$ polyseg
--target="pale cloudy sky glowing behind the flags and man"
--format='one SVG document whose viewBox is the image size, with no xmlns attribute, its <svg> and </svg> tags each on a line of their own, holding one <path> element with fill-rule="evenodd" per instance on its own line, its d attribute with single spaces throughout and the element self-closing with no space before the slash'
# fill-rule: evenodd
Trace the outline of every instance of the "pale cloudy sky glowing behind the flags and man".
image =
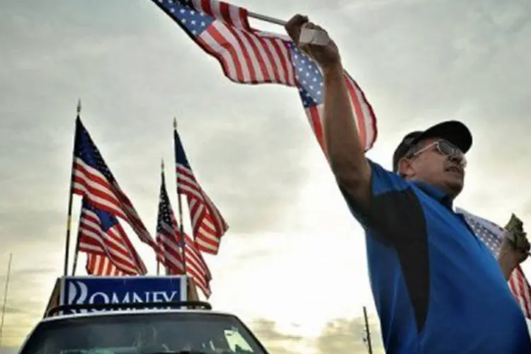
<svg viewBox="0 0 531 354">
<path fill-rule="evenodd" d="M 390 168 L 406 132 L 462 120 L 474 147 L 456 205 L 498 224 L 511 212 L 531 219 L 527 1 L 233 4 L 285 20 L 304 13 L 329 31 L 378 118 L 371 159 Z M 2 286 L 13 253 L 3 346 L 20 345 L 62 274 L 81 98 L 84 125 L 153 233 L 161 159 L 176 205 L 178 118 L 190 164 L 230 226 L 207 257 L 216 309 L 240 316 L 273 353 L 358 354 L 366 306 L 382 353 L 363 232 L 295 89 L 232 83 L 148 0 L 3 0 L 0 33 Z M 154 255 L 126 230 L 154 273 Z M 523 267 L 531 273 L 531 261 Z"/>
</svg>

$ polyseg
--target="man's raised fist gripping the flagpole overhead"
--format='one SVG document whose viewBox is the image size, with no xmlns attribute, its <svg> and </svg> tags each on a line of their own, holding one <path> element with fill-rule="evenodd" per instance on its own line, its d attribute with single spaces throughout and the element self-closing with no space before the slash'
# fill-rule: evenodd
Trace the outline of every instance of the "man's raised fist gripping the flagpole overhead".
<svg viewBox="0 0 531 354">
<path fill-rule="evenodd" d="M 302 28 L 310 28 L 315 30 L 323 30 L 318 25 L 309 22 L 307 16 L 295 15 L 287 21 L 285 29 L 287 34 L 290 35 L 295 45 L 299 47 L 309 57 L 314 59 L 317 64 L 326 72 L 328 69 L 333 69 L 341 65 L 341 57 L 339 56 L 338 47 L 333 40 L 330 40 L 327 45 L 314 45 L 299 43 L 300 33 Z M 325 31 L 326 32 L 326 31 Z"/>
</svg>

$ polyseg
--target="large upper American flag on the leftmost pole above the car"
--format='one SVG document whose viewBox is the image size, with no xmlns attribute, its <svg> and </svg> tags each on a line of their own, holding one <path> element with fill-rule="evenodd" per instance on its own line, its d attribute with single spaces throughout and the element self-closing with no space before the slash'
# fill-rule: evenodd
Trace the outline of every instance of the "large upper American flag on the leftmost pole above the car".
<svg viewBox="0 0 531 354">
<path fill-rule="evenodd" d="M 74 194 L 87 198 L 98 210 L 124 219 L 143 242 L 156 249 L 155 241 L 122 192 L 79 116 L 76 118 L 72 181 Z"/>
</svg>

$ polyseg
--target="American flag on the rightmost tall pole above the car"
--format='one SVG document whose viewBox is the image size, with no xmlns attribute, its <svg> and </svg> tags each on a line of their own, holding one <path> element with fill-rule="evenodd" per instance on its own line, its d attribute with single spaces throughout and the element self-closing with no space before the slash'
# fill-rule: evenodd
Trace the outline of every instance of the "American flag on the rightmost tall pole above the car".
<svg viewBox="0 0 531 354">
<path fill-rule="evenodd" d="M 229 225 L 195 179 L 177 130 L 173 131 L 173 140 L 175 142 L 177 193 L 186 195 L 188 200 L 195 244 L 200 251 L 217 254 L 221 237 L 227 232 Z"/>
</svg>

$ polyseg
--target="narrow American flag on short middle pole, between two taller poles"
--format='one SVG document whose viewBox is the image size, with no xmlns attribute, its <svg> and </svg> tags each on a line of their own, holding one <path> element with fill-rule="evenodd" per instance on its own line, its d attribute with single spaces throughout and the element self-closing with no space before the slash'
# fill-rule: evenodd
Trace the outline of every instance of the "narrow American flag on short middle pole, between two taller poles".
<svg viewBox="0 0 531 354">
<path fill-rule="evenodd" d="M 163 171 L 161 172 L 159 212 L 156 221 L 156 243 L 159 245 L 156 260 L 164 265 L 169 274 L 184 274 L 183 256 L 177 230 L 177 222 L 171 210 Z"/>
</svg>

